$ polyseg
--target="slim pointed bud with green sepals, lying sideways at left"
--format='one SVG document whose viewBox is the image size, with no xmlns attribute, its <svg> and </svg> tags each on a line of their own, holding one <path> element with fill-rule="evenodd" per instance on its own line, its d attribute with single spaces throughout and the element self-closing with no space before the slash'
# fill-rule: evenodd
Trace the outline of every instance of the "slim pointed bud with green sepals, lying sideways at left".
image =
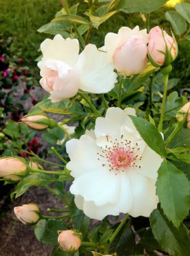
<svg viewBox="0 0 190 256">
<path fill-rule="evenodd" d="M 45 115 L 45 113 L 37 113 L 32 116 L 27 115 L 24 116 L 21 121 L 28 127 L 38 131 L 44 131 L 47 127 L 56 127 L 56 122 Z"/>
</svg>

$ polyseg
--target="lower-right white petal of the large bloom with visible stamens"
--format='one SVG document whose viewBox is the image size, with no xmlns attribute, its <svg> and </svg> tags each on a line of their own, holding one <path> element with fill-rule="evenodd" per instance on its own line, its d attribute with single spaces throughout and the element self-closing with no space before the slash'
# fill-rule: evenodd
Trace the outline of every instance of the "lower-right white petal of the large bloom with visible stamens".
<svg viewBox="0 0 190 256">
<path fill-rule="evenodd" d="M 149 217 L 158 203 L 155 181 L 138 174 L 136 170 L 127 170 L 127 175 L 133 195 L 133 205 L 129 214 L 132 217 Z"/>
</svg>

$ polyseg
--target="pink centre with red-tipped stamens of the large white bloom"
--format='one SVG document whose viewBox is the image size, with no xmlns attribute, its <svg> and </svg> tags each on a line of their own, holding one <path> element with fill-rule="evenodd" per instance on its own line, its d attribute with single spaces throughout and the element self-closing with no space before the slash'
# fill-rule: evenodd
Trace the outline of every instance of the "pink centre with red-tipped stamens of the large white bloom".
<svg viewBox="0 0 190 256">
<path fill-rule="evenodd" d="M 108 140 L 108 136 L 107 136 Z M 138 153 L 140 148 L 138 147 L 138 143 L 133 147 L 131 146 L 131 141 L 123 139 L 123 135 L 121 136 L 120 142 L 115 139 L 114 142 L 112 140 L 109 141 L 112 146 L 105 145 L 105 149 L 102 148 L 102 154 L 97 153 L 100 158 L 99 161 L 103 161 L 103 167 L 109 166 L 109 171 L 122 171 L 124 172 L 127 167 L 138 167 L 136 165 L 136 160 L 138 157 Z M 139 158 L 141 160 L 141 157 Z"/>
</svg>

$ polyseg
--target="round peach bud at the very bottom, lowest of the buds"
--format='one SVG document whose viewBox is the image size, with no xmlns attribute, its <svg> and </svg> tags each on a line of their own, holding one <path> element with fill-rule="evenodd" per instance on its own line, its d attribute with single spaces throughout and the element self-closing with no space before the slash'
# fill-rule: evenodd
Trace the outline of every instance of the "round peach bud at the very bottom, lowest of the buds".
<svg viewBox="0 0 190 256">
<path fill-rule="evenodd" d="M 61 231 L 58 242 L 63 250 L 75 252 L 81 246 L 81 233 L 76 232 L 76 230 Z"/>
</svg>

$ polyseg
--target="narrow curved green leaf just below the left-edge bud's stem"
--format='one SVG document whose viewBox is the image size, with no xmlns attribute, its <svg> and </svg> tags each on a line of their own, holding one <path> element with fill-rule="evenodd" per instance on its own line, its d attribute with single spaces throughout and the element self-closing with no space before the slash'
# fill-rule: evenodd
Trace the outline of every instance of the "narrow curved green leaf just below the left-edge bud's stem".
<svg viewBox="0 0 190 256">
<path fill-rule="evenodd" d="M 17 187 L 15 188 L 15 191 L 12 193 L 12 196 L 16 194 L 15 198 L 17 199 L 32 186 L 39 187 L 41 185 L 49 185 L 54 181 L 55 179 L 52 179 L 47 174 L 33 172 L 32 174 L 30 174 L 30 176 L 25 177 L 17 184 Z"/>
</svg>

